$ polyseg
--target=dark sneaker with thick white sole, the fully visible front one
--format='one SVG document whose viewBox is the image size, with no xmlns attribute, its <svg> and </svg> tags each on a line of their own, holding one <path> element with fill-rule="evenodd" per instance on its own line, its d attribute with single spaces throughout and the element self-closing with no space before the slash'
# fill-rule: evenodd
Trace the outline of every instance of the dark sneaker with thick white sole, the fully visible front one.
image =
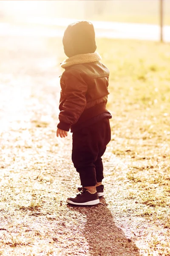
<svg viewBox="0 0 170 256">
<path fill-rule="evenodd" d="M 66 202 L 68 204 L 75 205 L 95 205 L 99 204 L 98 193 L 91 194 L 87 189 L 82 188 L 79 194 L 74 198 L 67 198 Z"/>
</svg>

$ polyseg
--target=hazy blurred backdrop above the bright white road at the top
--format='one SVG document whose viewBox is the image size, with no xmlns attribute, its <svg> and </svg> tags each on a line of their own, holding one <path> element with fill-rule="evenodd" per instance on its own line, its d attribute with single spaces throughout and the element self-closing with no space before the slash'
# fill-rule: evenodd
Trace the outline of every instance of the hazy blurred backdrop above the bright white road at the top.
<svg viewBox="0 0 170 256">
<path fill-rule="evenodd" d="M 1 1 L 2 17 L 73 18 L 159 23 L 160 0 Z M 170 1 L 164 0 L 164 23 L 170 25 Z"/>
</svg>

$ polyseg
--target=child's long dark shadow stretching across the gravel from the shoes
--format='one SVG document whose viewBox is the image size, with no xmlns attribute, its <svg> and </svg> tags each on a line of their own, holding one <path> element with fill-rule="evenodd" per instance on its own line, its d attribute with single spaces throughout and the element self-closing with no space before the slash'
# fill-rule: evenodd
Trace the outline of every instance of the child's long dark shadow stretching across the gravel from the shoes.
<svg viewBox="0 0 170 256">
<path fill-rule="evenodd" d="M 105 199 L 102 198 L 100 201 L 102 204 L 94 207 L 72 207 L 75 211 L 86 215 L 82 234 L 88 242 L 88 255 L 140 256 L 138 247 L 114 223 Z"/>
</svg>

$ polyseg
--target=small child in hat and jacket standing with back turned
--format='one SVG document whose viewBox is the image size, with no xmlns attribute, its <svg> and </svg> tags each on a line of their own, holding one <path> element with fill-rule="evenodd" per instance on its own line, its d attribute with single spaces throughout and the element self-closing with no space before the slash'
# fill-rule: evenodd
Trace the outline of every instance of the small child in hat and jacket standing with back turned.
<svg viewBox="0 0 170 256">
<path fill-rule="evenodd" d="M 60 79 L 59 124 L 57 137 L 73 133 L 72 161 L 79 172 L 79 194 L 69 204 L 99 204 L 104 195 L 102 155 L 111 140 L 106 109 L 109 70 L 96 51 L 94 26 L 88 21 L 70 24 L 62 39 L 68 59 Z"/>
</svg>

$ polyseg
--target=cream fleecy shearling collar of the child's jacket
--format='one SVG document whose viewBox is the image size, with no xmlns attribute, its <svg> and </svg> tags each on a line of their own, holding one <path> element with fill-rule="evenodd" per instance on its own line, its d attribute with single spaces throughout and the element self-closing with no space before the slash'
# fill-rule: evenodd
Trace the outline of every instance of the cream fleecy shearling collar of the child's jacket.
<svg viewBox="0 0 170 256">
<path fill-rule="evenodd" d="M 76 64 L 100 61 L 101 59 L 102 58 L 101 58 L 101 56 L 99 55 L 98 52 L 86 53 L 86 54 L 78 54 L 78 55 L 75 55 L 75 56 L 72 56 L 70 58 L 65 59 L 61 63 L 60 66 L 65 68 L 65 67 L 69 67 L 69 66 L 76 65 Z"/>
</svg>

